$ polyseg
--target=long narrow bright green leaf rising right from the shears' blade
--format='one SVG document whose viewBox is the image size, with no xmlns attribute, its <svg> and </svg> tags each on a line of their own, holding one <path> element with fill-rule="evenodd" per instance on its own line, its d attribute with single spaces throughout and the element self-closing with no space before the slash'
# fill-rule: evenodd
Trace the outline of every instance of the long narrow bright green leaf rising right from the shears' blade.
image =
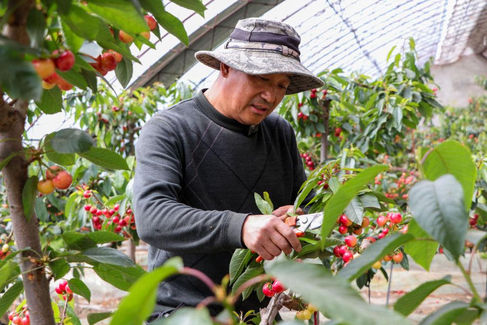
<svg viewBox="0 0 487 325">
<path fill-rule="evenodd" d="M 350 201 L 356 196 L 364 185 L 374 180 L 378 173 L 388 169 L 385 165 L 369 167 L 359 172 L 354 178 L 349 179 L 335 195 L 326 203 L 323 211 L 323 224 L 321 225 L 321 236 L 328 237 L 328 233 L 336 225 L 337 218 L 342 214 Z"/>
</svg>

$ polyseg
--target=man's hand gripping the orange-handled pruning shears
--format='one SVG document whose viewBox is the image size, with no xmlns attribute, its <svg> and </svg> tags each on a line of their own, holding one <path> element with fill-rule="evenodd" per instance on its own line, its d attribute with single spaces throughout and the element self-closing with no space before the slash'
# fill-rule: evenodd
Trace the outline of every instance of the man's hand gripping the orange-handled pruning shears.
<svg viewBox="0 0 487 325">
<path fill-rule="evenodd" d="M 284 223 L 288 215 L 249 215 L 242 227 L 242 240 L 248 249 L 256 251 L 265 260 L 272 260 L 283 251 L 289 255 L 292 249 L 301 250 L 296 233 Z"/>
</svg>

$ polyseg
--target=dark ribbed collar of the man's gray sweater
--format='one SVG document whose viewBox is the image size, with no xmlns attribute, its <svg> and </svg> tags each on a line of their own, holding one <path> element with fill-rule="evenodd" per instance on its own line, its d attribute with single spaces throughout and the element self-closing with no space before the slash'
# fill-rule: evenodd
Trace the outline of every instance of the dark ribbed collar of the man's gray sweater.
<svg viewBox="0 0 487 325">
<path fill-rule="evenodd" d="M 209 119 L 225 129 L 242 132 L 247 135 L 253 134 L 259 130 L 259 124 L 245 125 L 218 112 L 218 110 L 211 105 L 206 96 L 203 94 L 206 92 L 206 89 L 207 88 L 202 89 L 196 96 L 193 97 L 193 99 L 203 114 L 208 116 Z"/>
</svg>

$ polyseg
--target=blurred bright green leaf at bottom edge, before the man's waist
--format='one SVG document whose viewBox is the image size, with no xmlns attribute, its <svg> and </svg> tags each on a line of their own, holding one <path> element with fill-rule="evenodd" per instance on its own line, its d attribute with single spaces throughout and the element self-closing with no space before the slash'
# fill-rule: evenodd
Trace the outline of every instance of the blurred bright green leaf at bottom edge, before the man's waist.
<svg viewBox="0 0 487 325">
<path fill-rule="evenodd" d="M 142 324 L 154 308 L 159 283 L 178 273 L 181 268 L 183 268 L 183 260 L 175 257 L 166 261 L 161 267 L 143 275 L 120 302 L 110 325 Z"/>
</svg>

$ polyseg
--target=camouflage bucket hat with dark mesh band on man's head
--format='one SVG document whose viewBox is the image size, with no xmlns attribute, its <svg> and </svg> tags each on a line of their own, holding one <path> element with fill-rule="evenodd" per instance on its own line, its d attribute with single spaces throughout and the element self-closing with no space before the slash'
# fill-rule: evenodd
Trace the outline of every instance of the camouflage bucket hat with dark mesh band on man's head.
<svg viewBox="0 0 487 325">
<path fill-rule="evenodd" d="M 291 74 L 286 95 L 323 86 L 300 62 L 301 38 L 296 30 L 280 21 L 260 18 L 239 20 L 225 48 L 198 51 L 201 63 L 220 70 L 220 62 L 248 75 Z"/>
</svg>

